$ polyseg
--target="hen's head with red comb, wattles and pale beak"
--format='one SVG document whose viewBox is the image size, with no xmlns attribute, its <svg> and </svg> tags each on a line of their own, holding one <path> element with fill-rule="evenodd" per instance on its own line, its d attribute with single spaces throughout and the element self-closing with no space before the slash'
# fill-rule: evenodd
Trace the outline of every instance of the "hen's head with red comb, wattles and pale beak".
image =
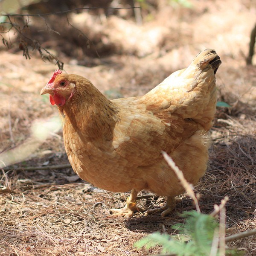
<svg viewBox="0 0 256 256">
<path fill-rule="evenodd" d="M 62 74 L 55 70 L 47 85 L 41 90 L 41 95 L 49 93 L 52 105 L 64 106 L 81 91 L 81 87 L 93 86 L 82 76 Z M 85 88 L 84 88 L 85 89 Z"/>
</svg>

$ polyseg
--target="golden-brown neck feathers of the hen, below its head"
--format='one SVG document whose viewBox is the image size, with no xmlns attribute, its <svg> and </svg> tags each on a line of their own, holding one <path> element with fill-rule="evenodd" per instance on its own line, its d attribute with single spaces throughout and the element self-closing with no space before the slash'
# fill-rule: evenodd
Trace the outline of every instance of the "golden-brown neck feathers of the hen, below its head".
<svg viewBox="0 0 256 256">
<path fill-rule="evenodd" d="M 81 140 L 97 143 L 112 140 L 113 129 L 119 122 L 119 108 L 87 79 L 76 81 L 76 93 L 58 108 L 69 119 Z"/>
</svg>

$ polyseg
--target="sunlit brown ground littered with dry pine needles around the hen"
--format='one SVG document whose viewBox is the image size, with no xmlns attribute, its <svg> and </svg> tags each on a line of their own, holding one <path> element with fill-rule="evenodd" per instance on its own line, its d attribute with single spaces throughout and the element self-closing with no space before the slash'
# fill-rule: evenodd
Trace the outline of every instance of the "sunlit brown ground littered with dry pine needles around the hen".
<svg viewBox="0 0 256 256">
<path fill-rule="evenodd" d="M 129 1 L 99 2 L 129 6 Z M 225 195 L 230 198 L 227 235 L 255 229 L 256 59 L 246 66 L 245 58 L 256 2 L 189 0 L 190 8 L 173 2 L 142 1 L 135 17 L 131 9 L 72 12 L 68 20 L 51 15 L 44 22 L 30 17 L 30 33 L 64 61 L 67 73 L 87 77 L 110 98 L 143 95 L 187 67 L 201 50 L 214 48 L 222 61 L 216 75 L 218 100 L 231 108 L 217 110 L 209 168 L 195 192 L 204 213 L 212 212 Z M 24 13 L 52 11 L 59 9 L 41 2 Z M 47 30 L 46 23 L 60 35 Z M 133 244 L 154 231 L 175 233 L 171 226 L 184 221 L 179 213 L 195 209 L 192 199 L 183 195 L 166 218 L 158 213 L 108 218 L 108 209 L 123 207 L 129 194 L 92 186 L 68 166 L 61 127 L 53 119 L 57 111 L 40 96 L 57 67 L 32 48 L 26 60 L 17 50 L 17 37 L 9 34 L 10 49 L 0 46 L 0 166 L 9 165 L 0 169 L 0 255 L 160 253 L 160 247 L 137 250 Z M 156 195 L 139 200 L 149 209 L 163 203 Z M 256 255 L 255 236 L 228 246 Z"/>
</svg>

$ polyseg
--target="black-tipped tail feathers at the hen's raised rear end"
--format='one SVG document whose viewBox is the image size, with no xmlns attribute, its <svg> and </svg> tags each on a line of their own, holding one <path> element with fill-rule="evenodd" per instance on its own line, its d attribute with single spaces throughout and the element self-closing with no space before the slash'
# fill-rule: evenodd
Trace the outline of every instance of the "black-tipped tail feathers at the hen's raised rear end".
<svg viewBox="0 0 256 256">
<path fill-rule="evenodd" d="M 221 64 L 220 57 L 214 49 L 205 49 L 203 52 L 195 56 L 193 62 L 198 68 L 204 70 L 209 64 L 212 67 L 214 74 L 216 74 L 218 67 Z"/>
</svg>

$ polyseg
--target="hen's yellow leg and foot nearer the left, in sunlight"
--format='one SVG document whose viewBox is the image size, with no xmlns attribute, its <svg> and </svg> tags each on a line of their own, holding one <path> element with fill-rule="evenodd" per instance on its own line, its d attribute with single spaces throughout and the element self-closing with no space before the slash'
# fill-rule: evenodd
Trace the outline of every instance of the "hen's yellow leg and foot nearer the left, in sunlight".
<svg viewBox="0 0 256 256">
<path fill-rule="evenodd" d="M 137 194 L 138 194 L 138 191 L 136 191 L 135 189 L 132 189 L 131 195 L 126 200 L 125 207 L 121 209 L 110 209 L 110 211 L 113 213 L 110 216 L 124 216 L 126 218 L 130 218 L 135 211 L 144 212 L 145 209 L 137 207 L 136 205 Z"/>
</svg>

